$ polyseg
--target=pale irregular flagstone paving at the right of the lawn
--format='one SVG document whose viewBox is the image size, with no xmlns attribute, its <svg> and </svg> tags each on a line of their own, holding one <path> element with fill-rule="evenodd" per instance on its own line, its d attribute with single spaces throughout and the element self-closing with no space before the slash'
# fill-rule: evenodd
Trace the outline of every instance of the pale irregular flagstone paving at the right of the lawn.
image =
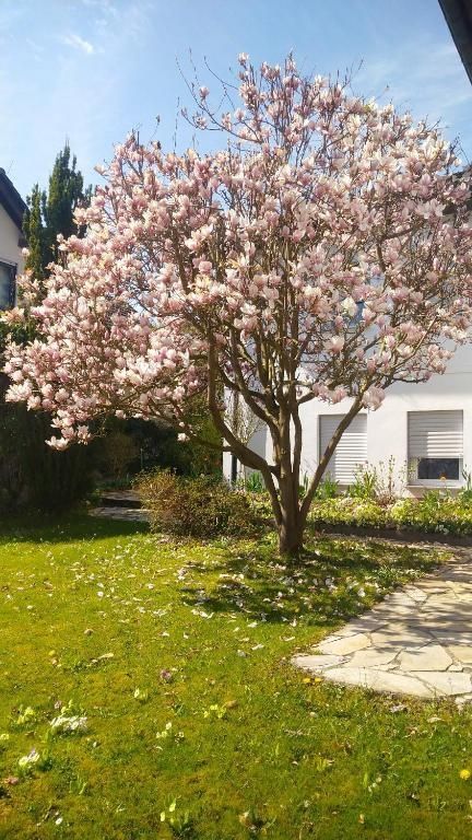
<svg viewBox="0 0 472 840">
<path fill-rule="evenodd" d="M 294 664 L 332 682 L 472 701 L 472 552 L 388 595 Z"/>
</svg>

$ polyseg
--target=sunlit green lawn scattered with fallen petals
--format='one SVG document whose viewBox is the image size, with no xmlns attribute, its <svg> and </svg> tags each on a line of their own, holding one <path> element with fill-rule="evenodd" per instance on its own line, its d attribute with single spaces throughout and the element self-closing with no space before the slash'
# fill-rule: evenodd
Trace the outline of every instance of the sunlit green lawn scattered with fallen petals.
<svg viewBox="0 0 472 840">
<path fill-rule="evenodd" d="M 4 526 L 0 838 L 470 837 L 469 710 L 307 681 L 290 664 L 438 556 L 310 548 L 285 568 L 269 537 Z M 86 731 L 54 733 L 62 707 Z"/>
</svg>

